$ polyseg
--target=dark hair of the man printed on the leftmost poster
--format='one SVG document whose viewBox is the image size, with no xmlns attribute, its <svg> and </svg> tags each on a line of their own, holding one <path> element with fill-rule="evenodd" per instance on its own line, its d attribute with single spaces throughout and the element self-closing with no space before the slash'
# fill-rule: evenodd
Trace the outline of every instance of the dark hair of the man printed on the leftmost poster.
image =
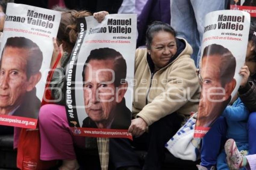
<svg viewBox="0 0 256 170">
<path fill-rule="evenodd" d="M 34 43 L 33 41 L 25 37 L 9 37 L 6 40 L 2 55 L 6 47 L 24 48 L 29 50 L 27 54 L 28 55 L 27 78 L 28 79 L 30 78 L 31 75 L 39 72 L 42 66 L 43 53 L 36 43 Z"/>
</svg>

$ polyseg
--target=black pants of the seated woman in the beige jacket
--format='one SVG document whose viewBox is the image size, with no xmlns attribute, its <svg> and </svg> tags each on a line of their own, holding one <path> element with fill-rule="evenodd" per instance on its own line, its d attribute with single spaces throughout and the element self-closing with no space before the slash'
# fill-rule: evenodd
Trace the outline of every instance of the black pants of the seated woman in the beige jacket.
<svg viewBox="0 0 256 170">
<path fill-rule="evenodd" d="M 144 170 L 161 169 L 165 158 L 164 152 L 166 151 L 164 146 L 180 129 L 183 120 L 183 117 L 179 114 L 169 114 L 149 126 L 148 133 L 145 132 L 140 137 L 133 138 L 133 145 L 136 148 L 147 149 L 148 151 L 143 167 Z"/>
</svg>

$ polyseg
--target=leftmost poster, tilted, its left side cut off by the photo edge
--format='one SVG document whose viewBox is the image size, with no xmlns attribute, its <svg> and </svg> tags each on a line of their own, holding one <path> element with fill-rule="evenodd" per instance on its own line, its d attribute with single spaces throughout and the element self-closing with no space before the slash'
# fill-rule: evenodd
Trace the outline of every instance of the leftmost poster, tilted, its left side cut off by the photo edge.
<svg viewBox="0 0 256 170">
<path fill-rule="evenodd" d="M 8 3 L 1 44 L 0 125 L 35 129 L 61 13 Z"/>
</svg>

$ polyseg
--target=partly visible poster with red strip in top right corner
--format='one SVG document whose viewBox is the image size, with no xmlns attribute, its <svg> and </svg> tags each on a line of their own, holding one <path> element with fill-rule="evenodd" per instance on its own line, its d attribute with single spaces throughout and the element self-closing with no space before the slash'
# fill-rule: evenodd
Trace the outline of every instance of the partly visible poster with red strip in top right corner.
<svg viewBox="0 0 256 170">
<path fill-rule="evenodd" d="M 230 0 L 230 9 L 245 11 L 256 17 L 256 2 L 252 0 Z"/>
</svg>

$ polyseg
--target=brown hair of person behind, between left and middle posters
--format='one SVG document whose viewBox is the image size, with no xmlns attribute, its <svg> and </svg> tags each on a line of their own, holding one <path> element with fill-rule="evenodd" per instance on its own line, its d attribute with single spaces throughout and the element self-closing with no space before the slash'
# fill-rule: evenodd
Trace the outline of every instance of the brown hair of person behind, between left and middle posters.
<svg viewBox="0 0 256 170">
<path fill-rule="evenodd" d="M 57 10 L 62 12 L 57 40 L 66 42 L 68 48 L 72 50 L 78 35 L 76 19 L 91 16 L 92 14 L 88 11 L 67 10 L 65 8 L 57 8 Z"/>
</svg>

